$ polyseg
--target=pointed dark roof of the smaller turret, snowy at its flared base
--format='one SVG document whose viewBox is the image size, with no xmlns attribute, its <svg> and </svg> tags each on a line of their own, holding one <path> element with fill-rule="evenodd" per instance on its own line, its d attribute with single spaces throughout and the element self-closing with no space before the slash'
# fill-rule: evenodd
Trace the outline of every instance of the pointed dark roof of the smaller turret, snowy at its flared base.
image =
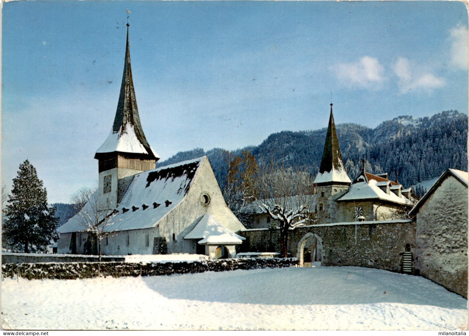
<svg viewBox="0 0 469 336">
<path fill-rule="evenodd" d="M 321 165 L 319 166 L 318 175 L 314 180 L 314 183 L 318 185 L 350 184 L 351 182 L 342 162 L 339 139 L 337 138 L 334 116 L 332 113 L 332 105 L 333 104 L 331 103 L 331 116 L 327 127 L 327 135 L 325 137 L 323 157 Z"/>
</svg>

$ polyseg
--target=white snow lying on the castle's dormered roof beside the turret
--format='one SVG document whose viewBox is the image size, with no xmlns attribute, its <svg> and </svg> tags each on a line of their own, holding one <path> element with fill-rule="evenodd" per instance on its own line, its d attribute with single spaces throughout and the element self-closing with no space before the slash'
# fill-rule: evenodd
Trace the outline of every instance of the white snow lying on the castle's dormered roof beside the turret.
<svg viewBox="0 0 469 336">
<path fill-rule="evenodd" d="M 354 201 L 366 199 L 380 199 L 400 204 L 410 204 L 410 201 L 405 196 L 397 196 L 394 193 L 386 194 L 380 187 L 378 182 L 374 179 L 366 182 L 357 182 L 348 188 L 348 192 L 340 197 L 337 201 Z"/>
</svg>

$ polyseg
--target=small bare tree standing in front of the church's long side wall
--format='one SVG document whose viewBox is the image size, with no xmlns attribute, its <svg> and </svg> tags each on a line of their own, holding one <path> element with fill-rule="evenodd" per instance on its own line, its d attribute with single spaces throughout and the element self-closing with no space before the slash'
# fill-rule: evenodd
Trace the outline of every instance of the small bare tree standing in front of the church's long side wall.
<svg viewBox="0 0 469 336">
<path fill-rule="evenodd" d="M 101 241 L 112 231 L 108 229 L 109 225 L 114 224 L 114 217 L 119 211 L 104 204 L 99 200 L 97 193 L 92 194 L 88 202 L 78 213 L 81 216 L 85 231 L 88 232 L 89 242 L 96 239 L 98 247 L 99 262 L 101 262 Z"/>
</svg>

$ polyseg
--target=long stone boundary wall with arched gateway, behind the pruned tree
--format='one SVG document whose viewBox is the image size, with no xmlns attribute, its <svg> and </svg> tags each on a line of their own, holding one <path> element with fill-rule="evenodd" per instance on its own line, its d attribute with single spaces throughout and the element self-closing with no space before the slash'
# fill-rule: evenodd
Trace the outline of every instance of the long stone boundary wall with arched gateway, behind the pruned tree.
<svg viewBox="0 0 469 336">
<path fill-rule="evenodd" d="M 322 265 L 400 271 L 401 253 L 406 244 L 415 247 L 415 234 L 410 220 L 310 225 L 290 231 L 288 253 L 302 265 L 306 238 L 315 236 L 322 245 Z M 279 230 L 245 230 L 241 235 L 246 241 L 240 252 L 280 251 Z"/>
</svg>

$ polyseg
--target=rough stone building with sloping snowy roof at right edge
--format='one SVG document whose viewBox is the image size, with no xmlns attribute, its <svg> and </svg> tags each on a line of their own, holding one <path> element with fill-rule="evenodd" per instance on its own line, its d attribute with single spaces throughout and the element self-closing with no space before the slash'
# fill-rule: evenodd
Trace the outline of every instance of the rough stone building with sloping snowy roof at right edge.
<svg viewBox="0 0 469 336">
<path fill-rule="evenodd" d="M 416 216 L 415 268 L 467 298 L 468 173 L 443 172 L 410 214 Z"/>
</svg>

